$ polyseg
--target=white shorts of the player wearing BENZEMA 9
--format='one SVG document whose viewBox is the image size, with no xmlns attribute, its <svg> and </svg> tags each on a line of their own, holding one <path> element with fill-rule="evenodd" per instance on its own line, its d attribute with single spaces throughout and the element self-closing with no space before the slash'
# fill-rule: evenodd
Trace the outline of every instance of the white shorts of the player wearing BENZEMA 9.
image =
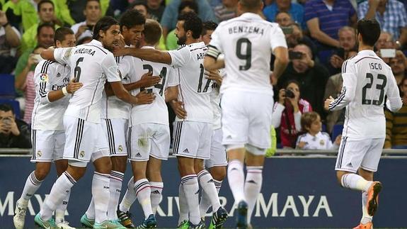
<svg viewBox="0 0 407 229">
<path fill-rule="evenodd" d="M 222 94 L 222 144 L 249 144 L 267 149 L 270 147 L 273 94 L 249 93 L 229 89 Z"/>
</svg>

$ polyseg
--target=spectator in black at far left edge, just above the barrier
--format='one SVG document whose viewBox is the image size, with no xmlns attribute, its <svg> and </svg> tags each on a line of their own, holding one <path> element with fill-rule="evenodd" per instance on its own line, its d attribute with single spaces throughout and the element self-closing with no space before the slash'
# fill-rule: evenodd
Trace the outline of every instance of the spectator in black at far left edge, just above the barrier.
<svg viewBox="0 0 407 229">
<path fill-rule="evenodd" d="M 8 104 L 0 104 L 0 147 L 30 148 L 30 135 L 30 127 L 16 119 L 13 108 Z"/>
</svg>

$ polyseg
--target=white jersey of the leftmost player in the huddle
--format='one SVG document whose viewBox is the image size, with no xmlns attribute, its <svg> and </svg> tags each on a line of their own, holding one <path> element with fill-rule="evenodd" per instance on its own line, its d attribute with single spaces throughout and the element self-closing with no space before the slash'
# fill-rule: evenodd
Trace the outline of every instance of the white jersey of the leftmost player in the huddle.
<svg viewBox="0 0 407 229">
<path fill-rule="evenodd" d="M 68 65 L 52 60 L 41 60 L 35 67 L 35 100 L 31 121 L 33 130 L 64 130 L 62 118 L 71 96 L 50 102 L 48 93 L 67 86 L 70 73 Z"/>
</svg>

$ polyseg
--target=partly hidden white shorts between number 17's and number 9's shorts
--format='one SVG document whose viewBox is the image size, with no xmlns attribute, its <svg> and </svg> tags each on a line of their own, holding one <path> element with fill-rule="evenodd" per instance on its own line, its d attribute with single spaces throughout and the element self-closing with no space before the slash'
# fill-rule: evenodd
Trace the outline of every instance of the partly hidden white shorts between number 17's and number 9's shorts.
<svg viewBox="0 0 407 229">
<path fill-rule="evenodd" d="M 222 145 L 222 129 L 212 131 L 212 141 L 210 145 L 210 159 L 205 160 L 205 167 L 227 166 L 226 149 Z"/>
</svg>

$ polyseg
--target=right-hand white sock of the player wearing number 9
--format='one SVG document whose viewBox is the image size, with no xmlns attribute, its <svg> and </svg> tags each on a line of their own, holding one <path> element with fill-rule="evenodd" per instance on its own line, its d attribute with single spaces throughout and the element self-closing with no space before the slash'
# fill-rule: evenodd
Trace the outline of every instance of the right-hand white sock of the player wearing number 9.
<svg viewBox="0 0 407 229">
<path fill-rule="evenodd" d="M 258 194 L 260 194 L 261 184 L 263 182 L 263 166 L 246 167 L 247 175 L 244 184 L 244 196 L 248 205 L 247 223 L 251 223 L 251 214 L 256 205 Z"/>
</svg>

